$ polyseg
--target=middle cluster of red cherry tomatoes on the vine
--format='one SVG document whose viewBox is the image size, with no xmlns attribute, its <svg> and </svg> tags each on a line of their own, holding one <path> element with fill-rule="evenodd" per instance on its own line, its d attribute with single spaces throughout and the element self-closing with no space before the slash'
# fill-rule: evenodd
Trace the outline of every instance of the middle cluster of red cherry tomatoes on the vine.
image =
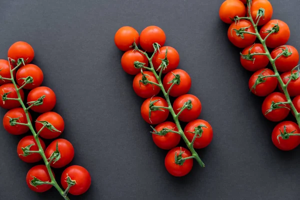
<svg viewBox="0 0 300 200">
<path fill-rule="evenodd" d="M 158 93 L 161 92 L 162 88 L 166 93 L 172 85 L 168 95 L 175 97 L 172 103 L 175 114 L 181 110 L 185 102 L 191 102 L 192 106 L 183 109 L 178 115 L 178 119 L 188 122 L 184 130 L 181 131 L 182 134 L 184 132 L 189 142 L 192 141 L 195 131 L 201 131 L 201 136 L 197 136 L 194 140 L 193 148 L 204 148 L 211 142 L 212 127 L 207 121 L 197 119 L 202 109 L 201 102 L 196 96 L 187 94 L 191 86 L 191 78 L 186 71 L 177 68 L 180 60 L 179 54 L 174 47 L 164 45 L 165 40 L 164 31 L 154 25 L 145 27 L 140 34 L 131 26 L 123 26 L 116 31 L 114 36 L 117 48 L 125 51 L 121 57 L 122 69 L 128 74 L 134 75 L 133 90 L 138 96 L 145 98 L 140 108 L 141 116 L 147 123 L 156 125 L 152 132 L 153 142 L 159 148 L 169 150 L 165 157 L 165 167 L 170 174 L 183 176 L 191 170 L 193 159 L 186 159 L 183 164 L 177 164 L 174 160 L 175 153 L 184 158 L 191 156 L 191 152 L 184 147 L 177 146 L 181 136 L 169 130 L 178 131 L 178 127 L 173 121 L 166 121 L 170 111 L 165 107 L 169 107 L 169 104 Z M 132 45 L 133 43 L 135 45 Z M 159 44 L 158 50 L 154 49 L 153 43 Z M 139 48 L 141 52 L 136 49 L 138 45 L 141 47 Z M 151 53 L 152 59 L 149 61 L 142 52 Z M 151 55 L 148 56 L 151 57 Z M 160 64 L 165 56 L 167 57 L 167 66 L 162 70 Z M 148 68 L 153 67 L 157 73 L 154 74 L 151 70 L 145 68 L 141 70 L 135 67 L 135 61 L 143 63 L 143 66 Z M 160 70 L 162 70 L 162 81 L 157 75 Z M 174 81 L 176 82 L 173 84 Z M 149 115 L 151 106 L 160 108 L 150 110 Z"/>
</svg>

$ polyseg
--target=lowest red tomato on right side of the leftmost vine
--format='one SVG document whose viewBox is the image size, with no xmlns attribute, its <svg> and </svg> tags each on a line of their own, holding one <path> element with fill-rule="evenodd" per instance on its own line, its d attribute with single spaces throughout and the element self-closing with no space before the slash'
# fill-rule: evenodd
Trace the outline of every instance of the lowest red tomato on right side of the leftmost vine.
<svg viewBox="0 0 300 200">
<path fill-rule="evenodd" d="M 64 189 L 67 188 L 66 177 L 76 181 L 76 184 L 72 185 L 69 190 L 72 195 L 80 195 L 86 192 L 91 184 L 89 172 L 79 165 L 71 165 L 62 172 L 60 182 Z"/>
</svg>

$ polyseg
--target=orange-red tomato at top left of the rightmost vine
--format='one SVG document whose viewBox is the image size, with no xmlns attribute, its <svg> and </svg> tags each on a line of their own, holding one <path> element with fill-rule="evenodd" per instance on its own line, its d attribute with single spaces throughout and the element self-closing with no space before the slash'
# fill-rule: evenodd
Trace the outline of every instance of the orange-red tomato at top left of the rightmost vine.
<svg viewBox="0 0 300 200">
<path fill-rule="evenodd" d="M 225 0 L 219 8 L 219 17 L 225 23 L 232 23 L 235 16 L 246 15 L 246 7 L 239 0 Z"/>
</svg>

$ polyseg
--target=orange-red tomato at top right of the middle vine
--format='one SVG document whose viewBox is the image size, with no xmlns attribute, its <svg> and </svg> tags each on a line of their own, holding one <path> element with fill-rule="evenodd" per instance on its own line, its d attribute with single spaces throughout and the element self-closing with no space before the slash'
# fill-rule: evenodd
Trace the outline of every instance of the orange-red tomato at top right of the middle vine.
<svg viewBox="0 0 300 200">
<path fill-rule="evenodd" d="M 150 25 L 140 32 L 139 41 L 142 49 L 147 52 L 153 52 L 153 43 L 157 42 L 160 46 L 163 46 L 165 42 L 165 33 L 160 27 Z"/>
</svg>

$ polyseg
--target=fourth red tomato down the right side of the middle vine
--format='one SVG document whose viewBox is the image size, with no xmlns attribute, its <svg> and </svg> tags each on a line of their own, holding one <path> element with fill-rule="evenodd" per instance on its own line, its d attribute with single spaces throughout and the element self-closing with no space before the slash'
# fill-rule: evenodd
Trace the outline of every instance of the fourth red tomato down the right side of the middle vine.
<svg viewBox="0 0 300 200">
<path fill-rule="evenodd" d="M 177 97 L 173 102 L 173 109 L 175 114 L 177 114 L 185 102 L 191 101 L 191 106 L 187 107 L 179 114 L 178 119 L 184 122 L 189 122 L 196 119 L 201 113 L 201 102 L 200 100 L 192 94 L 183 94 Z"/>
</svg>

